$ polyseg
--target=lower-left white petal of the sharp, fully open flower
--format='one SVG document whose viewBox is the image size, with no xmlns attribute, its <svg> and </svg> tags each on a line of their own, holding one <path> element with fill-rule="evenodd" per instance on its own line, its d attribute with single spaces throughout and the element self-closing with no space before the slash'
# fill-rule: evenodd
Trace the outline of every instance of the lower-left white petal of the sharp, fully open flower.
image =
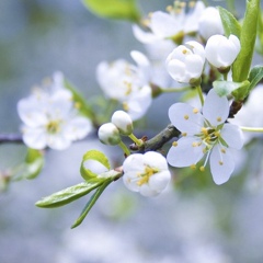
<svg viewBox="0 0 263 263">
<path fill-rule="evenodd" d="M 178 146 L 172 146 L 168 152 L 167 160 L 172 167 L 190 167 L 197 163 L 204 156 L 203 145 L 193 147 L 197 142 L 196 137 L 182 137 L 178 140 Z"/>
</svg>

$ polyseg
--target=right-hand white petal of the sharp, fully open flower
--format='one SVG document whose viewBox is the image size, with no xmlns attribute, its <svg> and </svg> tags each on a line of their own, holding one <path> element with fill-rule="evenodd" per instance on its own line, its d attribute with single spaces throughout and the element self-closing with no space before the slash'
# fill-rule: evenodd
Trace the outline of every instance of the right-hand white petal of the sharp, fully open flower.
<svg viewBox="0 0 263 263">
<path fill-rule="evenodd" d="M 229 147 L 235 149 L 241 149 L 243 147 L 243 133 L 237 125 L 225 124 L 220 134 Z"/>
</svg>

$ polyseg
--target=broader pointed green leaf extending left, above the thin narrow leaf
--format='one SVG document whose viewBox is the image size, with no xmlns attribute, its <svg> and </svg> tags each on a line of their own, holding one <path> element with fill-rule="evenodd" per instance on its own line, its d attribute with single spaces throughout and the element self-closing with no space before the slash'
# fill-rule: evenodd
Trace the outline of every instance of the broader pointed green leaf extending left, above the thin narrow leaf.
<svg viewBox="0 0 263 263">
<path fill-rule="evenodd" d="M 36 202 L 35 205 L 43 208 L 64 206 L 89 194 L 92 190 L 98 188 L 104 182 L 105 179 L 93 179 L 89 182 L 82 182 L 56 192 L 49 196 L 43 197 L 41 201 Z"/>
</svg>

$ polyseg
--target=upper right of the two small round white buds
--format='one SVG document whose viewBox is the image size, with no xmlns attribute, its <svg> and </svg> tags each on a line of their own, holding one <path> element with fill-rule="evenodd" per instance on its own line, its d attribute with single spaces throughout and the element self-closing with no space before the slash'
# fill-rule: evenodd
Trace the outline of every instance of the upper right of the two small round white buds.
<svg viewBox="0 0 263 263">
<path fill-rule="evenodd" d="M 112 115 L 112 123 L 118 128 L 122 135 L 130 135 L 134 130 L 133 121 L 124 111 L 116 111 Z"/>
</svg>

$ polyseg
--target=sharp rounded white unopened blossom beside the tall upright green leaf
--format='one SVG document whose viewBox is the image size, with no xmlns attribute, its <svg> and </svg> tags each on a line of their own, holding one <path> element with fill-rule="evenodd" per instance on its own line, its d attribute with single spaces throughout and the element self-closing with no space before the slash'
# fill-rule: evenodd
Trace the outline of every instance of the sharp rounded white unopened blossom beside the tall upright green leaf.
<svg viewBox="0 0 263 263">
<path fill-rule="evenodd" d="M 240 41 L 236 35 L 230 35 L 228 38 L 222 35 L 213 35 L 206 43 L 205 56 L 214 67 L 225 69 L 232 65 L 240 48 Z"/>
</svg>

